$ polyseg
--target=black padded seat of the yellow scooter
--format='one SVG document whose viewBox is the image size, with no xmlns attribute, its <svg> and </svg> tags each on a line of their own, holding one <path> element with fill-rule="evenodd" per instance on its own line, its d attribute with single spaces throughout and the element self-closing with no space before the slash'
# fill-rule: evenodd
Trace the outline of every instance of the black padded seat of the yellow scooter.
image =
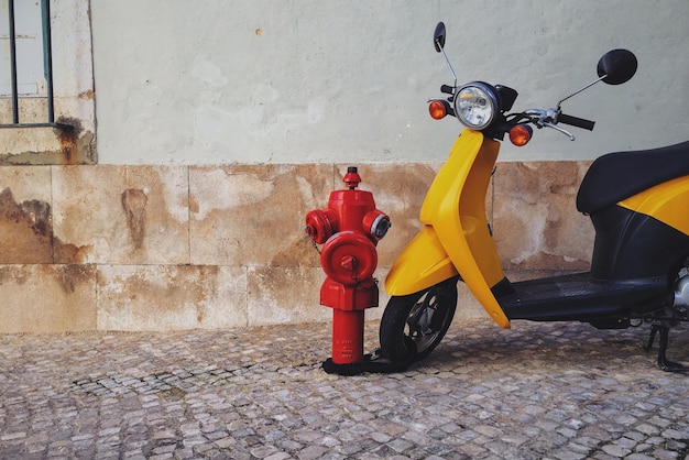
<svg viewBox="0 0 689 460">
<path fill-rule="evenodd" d="M 587 172 L 577 209 L 591 213 L 655 185 L 689 175 L 689 141 L 660 149 L 609 153 Z"/>
</svg>

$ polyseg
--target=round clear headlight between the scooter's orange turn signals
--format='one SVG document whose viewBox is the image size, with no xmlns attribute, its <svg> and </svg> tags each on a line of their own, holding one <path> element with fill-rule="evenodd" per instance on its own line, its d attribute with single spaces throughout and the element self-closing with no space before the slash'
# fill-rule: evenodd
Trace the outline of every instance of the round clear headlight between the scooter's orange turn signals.
<svg viewBox="0 0 689 460">
<path fill-rule="evenodd" d="M 491 124 L 499 110 L 495 90 L 480 81 L 462 86 L 455 96 L 457 118 L 472 130 L 482 130 Z"/>
</svg>

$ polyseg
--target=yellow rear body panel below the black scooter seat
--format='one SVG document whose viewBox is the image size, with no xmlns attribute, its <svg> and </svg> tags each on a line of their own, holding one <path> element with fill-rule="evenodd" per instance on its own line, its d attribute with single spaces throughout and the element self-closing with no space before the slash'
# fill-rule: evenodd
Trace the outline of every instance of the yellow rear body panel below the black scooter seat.
<svg viewBox="0 0 689 460">
<path fill-rule="evenodd" d="M 689 176 L 658 184 L 620 201 L 620 206 L 650 216 L 689 234 Z"/>
</svg>

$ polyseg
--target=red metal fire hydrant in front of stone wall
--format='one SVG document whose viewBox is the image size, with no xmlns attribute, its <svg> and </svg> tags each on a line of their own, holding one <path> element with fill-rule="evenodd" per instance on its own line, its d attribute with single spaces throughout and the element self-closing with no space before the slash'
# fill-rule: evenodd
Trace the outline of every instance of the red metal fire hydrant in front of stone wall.
<svg viewBox="0 0 689 460">
<path fill-rule="evenodd" d="M 306 215 L 306 232 L 314 243 L 324 244 L 320 265 L 327 277 L 320 304 L 332 308 L 332 358 L 324 368 L 338 373 L 364 360 L 364 310 L 378 307 L 379 296 L 375 245 L 391 226 L 390 218 L 375 209 L 373 194 L 357 189 L 361 182 L 357 167 L 348 167 L 342 180 L 347 188 L 330 193 L 327 209 Z"/>
</svg>

